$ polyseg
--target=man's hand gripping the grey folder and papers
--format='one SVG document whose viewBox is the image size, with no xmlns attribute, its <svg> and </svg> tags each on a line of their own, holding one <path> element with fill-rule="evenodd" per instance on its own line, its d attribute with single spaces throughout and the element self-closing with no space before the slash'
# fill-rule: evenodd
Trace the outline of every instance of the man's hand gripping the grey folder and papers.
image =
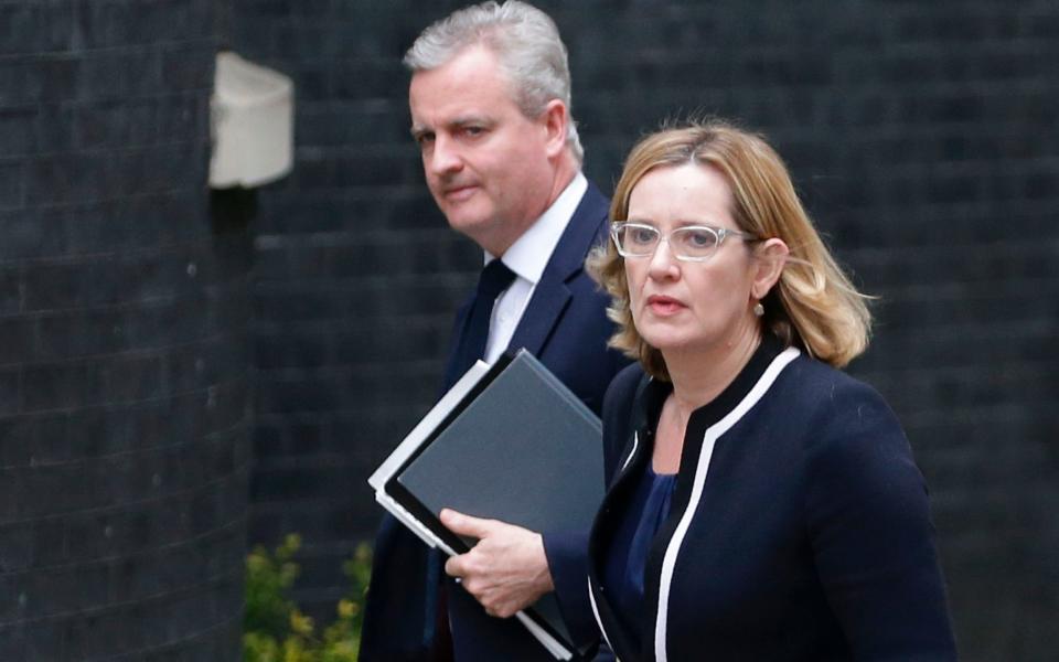
<svg viewBox="0 0 1059 662">
<path fill-rule="evenodd" d="M 478 538 L 470 552 L 449 558 L 445 572 L 460 579 L 490 616 L 514 616 L 555 588 L 539 533 L 448 509 L 441 511 L 441 523 Z"/>
</svg>

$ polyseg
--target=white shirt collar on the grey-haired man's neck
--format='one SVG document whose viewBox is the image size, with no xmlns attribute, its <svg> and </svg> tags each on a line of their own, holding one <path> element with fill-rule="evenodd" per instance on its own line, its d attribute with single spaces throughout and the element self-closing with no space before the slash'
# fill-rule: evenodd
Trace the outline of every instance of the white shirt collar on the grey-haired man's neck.
<svg viewBox="0 0 1059 662">
<path fill-rule="evenodd" d="M 588 180 L 578 172 L 552 206 L 504 253 L 502 259 L 507 268 L 520 278 L 536 285 L 586 191 Z M 491 259 L 493 256 L 486 252 L 485 264 Z"/>
</svg>

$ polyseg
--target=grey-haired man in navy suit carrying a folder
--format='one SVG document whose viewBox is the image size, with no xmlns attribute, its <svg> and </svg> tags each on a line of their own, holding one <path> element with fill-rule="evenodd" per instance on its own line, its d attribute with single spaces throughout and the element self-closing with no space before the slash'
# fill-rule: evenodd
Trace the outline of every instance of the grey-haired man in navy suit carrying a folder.
<svg viewBox="0 0 1059 662">
<path fill-rule="evenodd" d="M 427 185 L 488 264 L 457 316 L 446 387 L 475 359 L 526 348 L 598 413 L 625 360 L 606 346 L 608 299 L 582 270 L 606 239 L 608 203 L 580 172 L 558 30 L 523 2 L 485 2 L 424 31 L 405 64 Z M 553 660 L 510 618 L 552 590 L 570 631 L 595 633 L 588 532 L 542 534 L 448 511 L 442 521 L 480 541 L 443 570 L 440 554 L 384 520 L 363 662 Z"/>
</svg>

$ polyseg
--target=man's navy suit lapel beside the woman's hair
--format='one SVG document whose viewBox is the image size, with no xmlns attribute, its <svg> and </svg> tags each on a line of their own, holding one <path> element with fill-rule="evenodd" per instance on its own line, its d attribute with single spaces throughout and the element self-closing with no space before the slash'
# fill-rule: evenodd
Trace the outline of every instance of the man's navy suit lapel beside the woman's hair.
<svg viewBox="0 0 1059 662">
<path fill-rule="evenodd" d="M 509 350 L 526 348 L 539 356 L 569 306 L 571 293 L 566 284 L 585 268 L 585 256 L 603 232 L 607 212 L 607 199 L 589 182 L 552 259 L 541 275 L 541 281 L 507 345 Z"/>
</svg>

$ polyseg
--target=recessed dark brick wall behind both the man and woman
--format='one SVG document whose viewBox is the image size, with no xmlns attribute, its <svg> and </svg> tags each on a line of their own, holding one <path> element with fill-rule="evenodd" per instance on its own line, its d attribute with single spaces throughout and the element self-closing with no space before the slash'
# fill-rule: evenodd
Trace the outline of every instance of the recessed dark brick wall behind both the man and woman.
<svg viewBox="0 0 1059 662">
<path fill-rule="evenodd" d="M 364 479 L 430 404 L 477 252 L 407 138 L 403 51 L 457 2 L 245 0 L 238 50 L 298 86 L 297 168 L 260 196 L 252 540 L 307 534 L 322 610 L 378 509 Z M 966 660 L 1052 660 L 1059 611 L 1059 6 L 543 2 L 586 170 L 703 110 L 768 134 L 839 259 L 879 297 L 852 372 L 932 488 Z M 10 195 L 0 189 L 0 195 Z"/>
</svg>

